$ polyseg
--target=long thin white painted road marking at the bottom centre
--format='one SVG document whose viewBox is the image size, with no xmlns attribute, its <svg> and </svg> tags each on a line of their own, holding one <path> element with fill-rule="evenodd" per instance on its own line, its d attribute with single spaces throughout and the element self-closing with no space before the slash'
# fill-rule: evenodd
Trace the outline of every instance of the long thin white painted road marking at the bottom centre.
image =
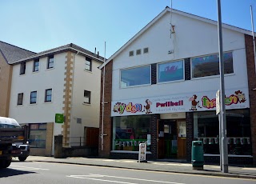
<svg viewBox="0 0 256 184">
<path fill-rule="evenodd" d="M 119 177 L 119 176 L 109 176 L 109 175 L 102 175 L 102 174 L 90 174 L 90 175 L 70 175 L 66 177 L 71 178 L 86 178 L 86 179 L 94 179 L 94 178 L 87 178 L 87 177 L 106 177 L 106 178 L 122 178 L 122 179 L 130 179 L 130 180 L 139 180 L 144 182 L 157 182 L 157 183 L 170 183 L 170 184 L 185 184 L 181 182 L 165 182 L 165 181 L 158 181 L 158 180 L 150 180 L 150 179 L 141 179 L 141 178 L 126 178 L 126 177 Z M 101 180 L 101 179 L 95 179 L 95 180 Z M 102 180 L 102 181 L 110 181 L 110 180 Z M 113 182 L 113 181 L 110 181 Z M 130 182 L 122 182 L 122 183 L 130 183 Z"/>
</svg>

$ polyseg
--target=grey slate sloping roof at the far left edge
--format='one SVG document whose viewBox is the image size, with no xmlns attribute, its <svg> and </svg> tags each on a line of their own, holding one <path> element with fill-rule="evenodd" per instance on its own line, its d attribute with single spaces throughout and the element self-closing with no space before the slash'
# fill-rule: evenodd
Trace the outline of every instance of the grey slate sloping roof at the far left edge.
<svg viewBox="0 0 256 184">
<path fill-rule="evenodd" d="M 25 50 L 2 41 L 0 41 L 0 53 L 2 53 L 8 64 L 35 54 L 30 50 Z"/>
</svg>

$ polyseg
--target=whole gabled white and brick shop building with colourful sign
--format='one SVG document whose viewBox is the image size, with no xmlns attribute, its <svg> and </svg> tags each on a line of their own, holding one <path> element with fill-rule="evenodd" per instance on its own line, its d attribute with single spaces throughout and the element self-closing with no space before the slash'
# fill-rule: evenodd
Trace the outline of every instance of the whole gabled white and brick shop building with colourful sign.
<svg viewBox="0 0 256 184">
<path fill-rule="evenodd" d="M 229 155 L 252 162 L 245 34 L 222 26 Z M 217 22 L 166 7 L 100 68 L 112 86 L 100 155 L 138 158 L 146 142 L 147 158 L 190 160 L 202 140 L 206 160 L 218 160 Z"/>
</svg>

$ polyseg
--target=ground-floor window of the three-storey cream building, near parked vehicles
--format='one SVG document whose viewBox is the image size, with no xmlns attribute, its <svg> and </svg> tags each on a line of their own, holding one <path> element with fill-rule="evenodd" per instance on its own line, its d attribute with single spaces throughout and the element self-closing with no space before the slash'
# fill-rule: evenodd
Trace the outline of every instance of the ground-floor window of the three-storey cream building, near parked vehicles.
<svg viewBox="0 0 256 184">
<path fill-rule="evenodd" d="M 30 124 L 30 147 L 46 148 L 46 123 Z"/>
</svg>

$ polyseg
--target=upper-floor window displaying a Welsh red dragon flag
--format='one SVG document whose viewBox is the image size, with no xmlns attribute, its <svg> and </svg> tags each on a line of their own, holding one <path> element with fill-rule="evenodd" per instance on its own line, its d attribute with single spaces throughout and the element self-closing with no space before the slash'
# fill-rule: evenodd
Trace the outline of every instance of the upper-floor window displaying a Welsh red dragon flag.
<svg viewBox="0 0 256 184">
<path fill-rule="evenodd" d="M 171 82 L 184 79 L 183 61 L 158 64 L 158 82 Z"/>
</svg>

